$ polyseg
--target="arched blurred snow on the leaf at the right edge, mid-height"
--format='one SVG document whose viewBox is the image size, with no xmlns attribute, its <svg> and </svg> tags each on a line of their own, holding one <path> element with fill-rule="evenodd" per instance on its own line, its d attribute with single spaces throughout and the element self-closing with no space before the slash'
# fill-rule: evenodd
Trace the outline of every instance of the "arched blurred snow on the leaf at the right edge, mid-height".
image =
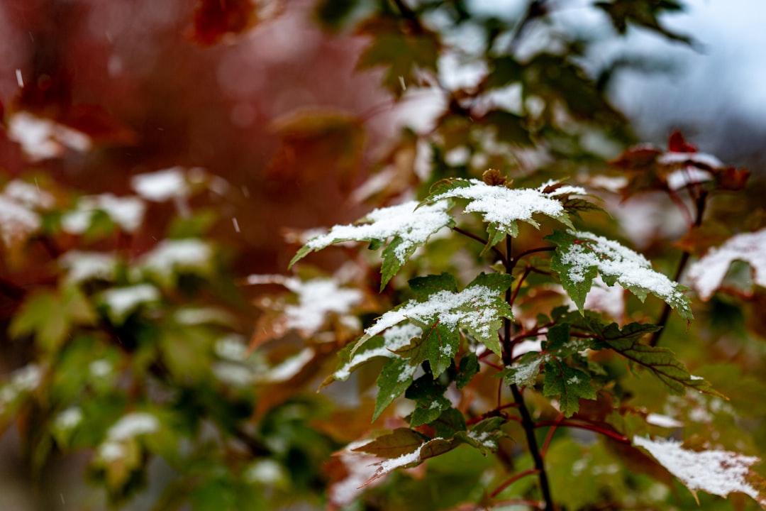
<svg viewBox="0 0 766 511">
<path fill-rule="evenodd" d="M 735 260 L 750 264 L 755 283 L 766 287 L 766 229 L 737 234 L 689 267 L 687 277 L 702 300 L 709 300 L 721 286 L 729 265 Z"/>
</svg>

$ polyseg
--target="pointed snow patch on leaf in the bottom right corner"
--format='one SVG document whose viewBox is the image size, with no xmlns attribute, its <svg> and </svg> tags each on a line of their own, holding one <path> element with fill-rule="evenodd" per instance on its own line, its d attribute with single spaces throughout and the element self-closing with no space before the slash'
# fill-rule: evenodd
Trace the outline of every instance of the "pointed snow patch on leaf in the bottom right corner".
<svg viewBox="0 0 766 511">
<path fill-rule="evenodd" d="M 728 496 L 729 493 L 745 493 L 761 506 L 766 505 L 764 497 L 751 482 L 755 478 L 750 467 L 757 457 L 745 456 L 728 450 L 688 450 L 679 441 L 650 440 L 633 437 L 633 444 L 643 447 L 657 462 L 694 493 L 702 490 L 713 495 Z"/>
</svg>

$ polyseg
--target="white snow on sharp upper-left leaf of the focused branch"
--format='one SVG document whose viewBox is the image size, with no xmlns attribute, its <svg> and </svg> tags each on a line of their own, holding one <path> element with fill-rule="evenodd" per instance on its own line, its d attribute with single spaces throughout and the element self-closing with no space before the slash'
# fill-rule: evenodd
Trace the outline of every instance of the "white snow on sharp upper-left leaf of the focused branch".
<svg viewBox="0 0 766 511">
<path fill-rule="evenodd" d="M 375 209 L 365 216 L 369 223 L 336 225 L 329 233 L 309 240 L 306 247 L 318 251 L 335 241 L 385 240 L 388 237 L 399 236 L 403 242 L 396 247 L 395 254 L 399 262 L 404 264 L 405 254 L 411 247 L 424 244 L 431 234 L 450 222 L 450 215 L 447 215 L 449 205 L 446 202 L 424 205 L 421 208 L 417 208 L 417 205 L 417 201 L 408 201 L 388 208 Z"/>
</svg>

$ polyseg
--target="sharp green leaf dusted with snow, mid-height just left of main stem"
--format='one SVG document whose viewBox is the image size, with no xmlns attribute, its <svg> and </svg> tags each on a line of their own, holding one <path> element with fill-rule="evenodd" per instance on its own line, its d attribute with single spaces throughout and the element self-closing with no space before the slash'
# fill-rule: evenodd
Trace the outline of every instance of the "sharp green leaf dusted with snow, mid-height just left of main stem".
<svg viewBox="0 0 766 511">
<path fill-rule="evenodd" d="M 431 336 L 427 329 L 439 329 L 442 335 L 451 335 L 444 332 L 457 332 L 458 328 L 465 329 L 499 355 L 497 330 L 502 326 L 502 318 L 512 319 L 511 310 L 502 295 L 512 280 L 512 277 L 505 274 L 480 274 L 464 290 L 455 292 L 444 289 L 444 276 L 414 279 L 415 289 L 425 290 L 429 283 L 433 283 L 430 293 L 424 291 L 422 300 L 410 300 L 380 316 L 374 325 L 365 330 L 365 335 L 356 342 L 352 353 L 373 336 L 404 321 L 410 321 L 421 326 L 424 336 L 428 338 L 428 345 L 434 345 L 427 349 L 429 359 L 436 362 L 432 365 L 434 371 L 440 365 L 438 358 L 441 355 L 453 358 L 457 350 L 449 339 L 442 343 L 444 337 Z"/>
</svg>

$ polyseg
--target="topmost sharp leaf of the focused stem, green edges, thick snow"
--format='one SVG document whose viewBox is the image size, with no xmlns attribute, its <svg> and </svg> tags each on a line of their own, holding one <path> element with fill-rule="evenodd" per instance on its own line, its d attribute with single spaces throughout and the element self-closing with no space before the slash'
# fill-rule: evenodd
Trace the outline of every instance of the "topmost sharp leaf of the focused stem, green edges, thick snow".
<svg viewBox="0 0 766 511">
<path fill-rule="evenodd" d="M 433 205 L 448 198 L 468 199 L 463 211 L 480 213 L 489 224 L 489 240 L 484 247 L 484 251 L 487 251 L 506 235 L 515 237 L 519 234 L 518 221 L 539 227 L 538 222 L 532 218 L 535 214 L 547 215 L 574 228 L 561 202 L 569 194 L 584 195 L 586 192 L 584 188 L 555 185 L 552 182 L 539 188 L 507 188 L 487 185 L 478 179 L 443 179 L 431 188 L 422 204 Z"/>
</svg>

